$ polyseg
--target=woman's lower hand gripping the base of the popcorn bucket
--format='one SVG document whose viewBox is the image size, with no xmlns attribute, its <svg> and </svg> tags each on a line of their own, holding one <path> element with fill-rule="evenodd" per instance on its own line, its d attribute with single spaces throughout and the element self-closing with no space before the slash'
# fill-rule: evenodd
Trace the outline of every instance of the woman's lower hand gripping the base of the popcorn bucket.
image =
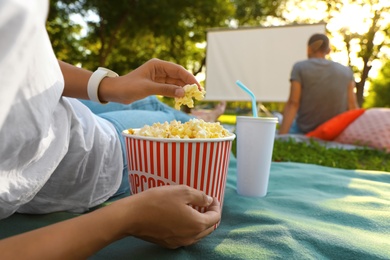
<svg viewBox="0 0 390 260">
<path fill-rule="evenodd" d="M 200 213 L 190 205 L 208 209 Z M 129 214 L 122 221 L 129 225 L 124 228 L 127 235 L 168 248 L 196 243 L 213 232 L 221 218 L 217 199 L 184 185 L 149 189 L 118 202 L 117 206 Z"/>
</svg>

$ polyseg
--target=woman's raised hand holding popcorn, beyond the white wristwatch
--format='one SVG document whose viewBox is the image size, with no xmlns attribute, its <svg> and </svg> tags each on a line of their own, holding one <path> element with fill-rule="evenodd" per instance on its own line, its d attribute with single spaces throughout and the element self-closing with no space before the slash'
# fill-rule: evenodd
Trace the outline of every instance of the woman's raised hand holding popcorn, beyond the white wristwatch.
<svg viewBox="0 0 390 260">
<path fill-rule="evenodd" d="M 99 99 L 129 104 L 150 95 L 183 97 L 182 87 L 197 84 L 196 78 L 182 66 L 151 59 L 130 73 L 117 78 L 104 78 L 99 86 Z"/>
</svg>

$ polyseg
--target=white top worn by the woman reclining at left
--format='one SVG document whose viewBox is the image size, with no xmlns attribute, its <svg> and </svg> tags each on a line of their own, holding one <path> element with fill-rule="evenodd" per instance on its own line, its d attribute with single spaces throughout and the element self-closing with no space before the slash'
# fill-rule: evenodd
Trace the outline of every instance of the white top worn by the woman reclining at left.
<svg viewBox="0 0 390 260">
<path fill-rule="evenodd" d="M 122 178 L 114 127 L 61 96 L 48 6 L 0 1 L 0 219 L 15 211 L 83 212 L 112 196 Z"/>
</svg>

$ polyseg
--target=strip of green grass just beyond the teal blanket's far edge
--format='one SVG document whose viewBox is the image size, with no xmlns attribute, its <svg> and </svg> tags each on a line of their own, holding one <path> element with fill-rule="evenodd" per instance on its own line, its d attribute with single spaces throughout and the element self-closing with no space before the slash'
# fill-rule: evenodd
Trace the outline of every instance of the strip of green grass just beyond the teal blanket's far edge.
<svg viewBox="0 0 390 260">
<path fill-rule="evenodd" d="M 232 152 L 236 155 L 236 142 L 233 143 Z M 369 148 L 355 150 L 326 148 L 315 141 L 303 143 L 293 139 L 275 140 L 272 161 L 390 172 L 390 153 Z"/>
</svg>

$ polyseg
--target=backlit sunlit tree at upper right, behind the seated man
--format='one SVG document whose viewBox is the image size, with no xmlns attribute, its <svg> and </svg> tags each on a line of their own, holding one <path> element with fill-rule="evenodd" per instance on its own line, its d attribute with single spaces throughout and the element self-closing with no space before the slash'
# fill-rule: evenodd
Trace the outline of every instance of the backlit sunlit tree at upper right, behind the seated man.
<svg viewBox="0 0 390 260">
<path fill-rule="evenodd" d="M 345 65 L 354 71 L 358 102 L 362 105 L 372 64 L 375 60 L 386 59 L 384 51 L 390 47 L 390 1 L 290 0 L 286 10 L 283 14 L 285 22 L 326 22 L 331 38 L 343 39 L 343 46 L 335 47 L 333 51 L 344 53 Z M 300 15 L 292 16 L 294 12 Z M 343 22 L 345 26 L 339 26 Z M 362 26 L 354 28 L 357 23 Z"/>
</svg>

